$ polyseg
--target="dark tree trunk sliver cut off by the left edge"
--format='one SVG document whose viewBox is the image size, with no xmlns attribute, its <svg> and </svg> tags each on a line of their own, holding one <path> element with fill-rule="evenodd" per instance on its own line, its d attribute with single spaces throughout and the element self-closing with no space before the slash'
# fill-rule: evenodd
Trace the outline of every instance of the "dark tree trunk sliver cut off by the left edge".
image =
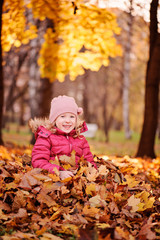
<svg viewBox="0 0 160 240">
<path fill-rule="evenodd" d="M 1 33 L 2 33 L 2 7 L 3 7 L 3 0 L 0 1 L 0 39 L 1 39 Z M 0 41 L 0 145 L 3 145 L 3 140 L 2 140 L 3 104 L 4 104 L 4 81 L 3 81 L 3 68 L 2 68 L 2 45 Z"/>
</svg>

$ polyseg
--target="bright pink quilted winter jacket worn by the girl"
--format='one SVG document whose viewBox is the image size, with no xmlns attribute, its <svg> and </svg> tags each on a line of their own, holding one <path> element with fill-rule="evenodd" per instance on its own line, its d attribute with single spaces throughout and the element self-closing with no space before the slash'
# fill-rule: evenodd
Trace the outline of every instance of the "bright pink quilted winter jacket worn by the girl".
<svg viewBox="0 0 160 240">
<path fill-rule="evenodd" d="M 87 125 L 84 122 L 81 132 L 87 130 Z M 49 160 L 54 160 L 56 156 L 59 157 L 61 155 L 71 156 L 71 152 L 75 150 L 77 167 L 78 160 L 84 156 L 84 159 L 97 168 L 85 137 L 81 135 L 75 138 L 73 137 L 74 135 L 75 130 L 67 134 L 57 128 L 56 133 L 52 133 L 46 127 L 39 126 L 35 132 L 36 142 L 32 150 L 32 166 L 34 168 L 46 169 L 50 173 L 54 173 L 53 169 L 55 167 L 58 170 L 64 170 L 61 166 L 50 163 Z"/>
</svg>

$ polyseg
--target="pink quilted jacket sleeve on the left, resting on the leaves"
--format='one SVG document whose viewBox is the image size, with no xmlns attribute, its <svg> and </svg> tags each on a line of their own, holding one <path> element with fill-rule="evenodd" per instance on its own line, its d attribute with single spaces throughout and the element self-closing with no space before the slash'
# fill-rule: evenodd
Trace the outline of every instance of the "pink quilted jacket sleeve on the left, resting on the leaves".
<svg viewBox="0 0 160 240">
<path fill-rule="evenodd" d="M 54 168 L 58 170 L 64 170 L 62 167 L 52 164 L 50 160 L 50 139 L 49 137 L 38 136 L 35 145 L 32 150 L 32 166 L 34 168 L 46 169 L 50 173 L 54 173 Z"/>
</svg>

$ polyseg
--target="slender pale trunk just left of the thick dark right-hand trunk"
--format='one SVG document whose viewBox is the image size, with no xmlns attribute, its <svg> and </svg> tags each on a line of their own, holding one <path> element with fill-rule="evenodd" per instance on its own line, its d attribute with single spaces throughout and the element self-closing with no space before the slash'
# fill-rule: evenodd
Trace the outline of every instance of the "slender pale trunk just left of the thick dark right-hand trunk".
<svg viewBox="0 0 160 240">
<path fill-rule="evenodd" d="M 129 124 L 129 86 L 130 86 L 130 53 L 131 53 L 131 38 L 132 38 L 132 4 L 130 0 L 130 11 L 128 13 L 128 24 L 126 29 L 127 41 L 124 52 L 124 78 L 123 78 L 123 125 L 126 139 L 131 138 L 130 124 Z"/>
</svg>

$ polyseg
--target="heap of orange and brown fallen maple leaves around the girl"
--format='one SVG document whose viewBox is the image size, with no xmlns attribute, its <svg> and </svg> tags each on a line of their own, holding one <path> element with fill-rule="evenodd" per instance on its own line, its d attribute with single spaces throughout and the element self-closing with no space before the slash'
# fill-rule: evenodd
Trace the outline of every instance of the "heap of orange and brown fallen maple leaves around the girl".
<svg viewBox="0 0 160 240">
<path fill-rule="evenodd" d="M 160 158 L 95 162 L 61 181 L 32 168 L 31 149 L 0 147 L 0 239 L 160 239 Z"/>
</svg>

